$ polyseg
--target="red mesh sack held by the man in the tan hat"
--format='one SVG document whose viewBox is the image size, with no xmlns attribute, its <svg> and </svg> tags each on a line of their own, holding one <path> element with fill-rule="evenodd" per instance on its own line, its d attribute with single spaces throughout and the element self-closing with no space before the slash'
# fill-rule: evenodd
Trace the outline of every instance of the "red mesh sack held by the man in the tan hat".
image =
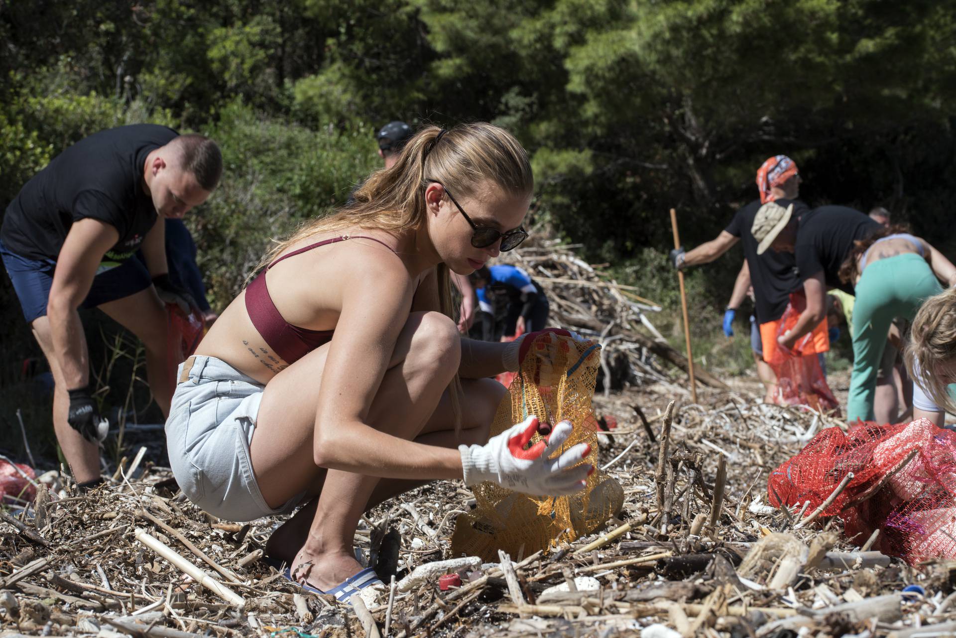
<svg viewBox="0 0 956 638">
<path fill-rule="evenodd" d="M 777 337 L 793 328 L 806 307 L 803 293 L 791 294 L 787 310 L 778 322 Z M 825 325 L 823 333 L 826 333 Z M 812 342 L 816 334 L 817 331 L 804 335 L 793 344 L 791 350 L 780 345 L 773 350 L 768 363 L 777 378 L 775 403 L 783 406 L 809 406 L 816 411 L 839 416 L 839 403 L 827 384 L 817 358 L 819 348 Z"/>
</svg>

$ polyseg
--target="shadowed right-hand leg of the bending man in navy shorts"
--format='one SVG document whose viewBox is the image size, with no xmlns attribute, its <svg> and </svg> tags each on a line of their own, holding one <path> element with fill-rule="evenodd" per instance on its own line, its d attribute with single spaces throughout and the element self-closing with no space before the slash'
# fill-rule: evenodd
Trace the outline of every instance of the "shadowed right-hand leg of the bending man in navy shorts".
<svg viewBox="0 0 956 638">
<path fill-rule="evenodd" d="M 126 328 L 140 341 L 146 352 L 146 377 L 153 399 L 163 410 L 163 416 L 169 416 L 169 402 L 173 397 L 173 376 L 175 365 L 182 362 L 179 343 L 167 343 L 168 321 L 163 302 L 150 286 L 140 292 L 107 301 L 97 306 Z M 170 348 L 175 350 L 170 351 Z"/>
</svg>

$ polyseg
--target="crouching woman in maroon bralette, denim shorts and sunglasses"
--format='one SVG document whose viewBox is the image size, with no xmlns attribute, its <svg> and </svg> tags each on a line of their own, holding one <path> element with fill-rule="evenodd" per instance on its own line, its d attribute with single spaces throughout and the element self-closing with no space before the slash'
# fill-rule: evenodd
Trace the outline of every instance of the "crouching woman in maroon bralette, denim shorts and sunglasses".
<svg viewBox="0 0 956 638">
<path fill-rule="evenodd" d="M 549 458 L 570 424 L 547 449 L 525 450 L 533 418 L 488 439 L 505 391 L 488 377 L 517 370 L 525 341 L 462 339 L 450 319 L 448 273 L 527 237 L 532 187 L 506 131 L 431 126 L 354 204 L 276 244 L 180 368 L 166 439 L 184 494 L 240 521 L 308 502 L 267 552 L 344 599 L 378 583 L 352 543 L 362 512 L 392 495 L 438 478 L 579 490 L 587 446 Z"/>
</svg>

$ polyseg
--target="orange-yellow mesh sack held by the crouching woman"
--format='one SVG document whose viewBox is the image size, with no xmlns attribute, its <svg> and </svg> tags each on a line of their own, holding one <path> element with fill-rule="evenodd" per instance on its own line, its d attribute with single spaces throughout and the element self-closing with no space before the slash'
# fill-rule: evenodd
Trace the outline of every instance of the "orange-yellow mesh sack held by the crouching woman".
<svg viewBox="0 0 956 638">
<path fill-rule="evenodd" d="M 557 354 L 554 361 L 540 357 L 547 347 Z M 594 341 L 576 341 L 559 333 L 537 335 L 511 383 L 508 394 L 491 426 L 491 436 L 521 423 L 534 414 L 541 423 L 554 426 L 570 421 L 574 431 L 562 450 L 589 443 L 585 458 L 597 468 L 597 433 L 588 424 L 594 421 L 594 395 L 600 346 Z M 535 434 L 534 442 L 541 438 Z M 561 451 L 555 451 L 554 456 Z M 576 495 L 538 497 L 512 492 L 494 483 L 475 486 L 477 507 L 456 520 L 451 537 L 454 556 L 479 556 L 497 561 L 498 550 L 512 557 L 529 556 L 558 540 L 571 541 L 599 529 L 609 517 L 620 512 L 624 493 L 618 481 L 596 470 L 587 486 Z"/>
</svg>

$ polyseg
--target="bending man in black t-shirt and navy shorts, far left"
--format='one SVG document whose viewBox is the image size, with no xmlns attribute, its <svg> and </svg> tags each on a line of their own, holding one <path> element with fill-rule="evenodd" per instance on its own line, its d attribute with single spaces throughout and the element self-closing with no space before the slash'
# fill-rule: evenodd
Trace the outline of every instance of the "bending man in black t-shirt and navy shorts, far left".
<svg viewBox="0 0 956 638">
<path fill-rule="evenodd" d="M 77 483 L 99 477 L 106 434 L 89 379 L 78 308 L 99 308 L 143 343 L 149 385 L 168 414 L 164 225 L 206 201 L 222 174 L 216 143 L 155 124 L 101 131 L 70 146 L 13 199 L 0 257 L 54 375 L 54 429 Z M 134 254 L 141 250 L 145 265 Z"/>
</svg>

